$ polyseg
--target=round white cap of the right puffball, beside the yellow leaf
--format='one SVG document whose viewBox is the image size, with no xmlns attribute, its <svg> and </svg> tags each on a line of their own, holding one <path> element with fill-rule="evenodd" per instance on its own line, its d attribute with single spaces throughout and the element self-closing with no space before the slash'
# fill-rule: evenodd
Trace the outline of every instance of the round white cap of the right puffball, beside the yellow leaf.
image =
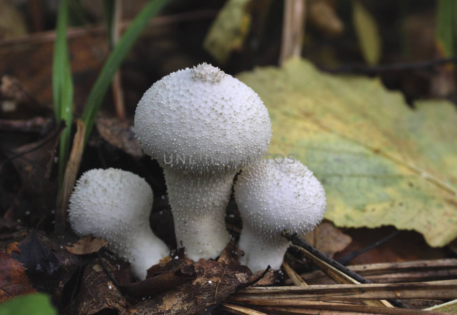
<svg viewBox="0 0 457 315">
<path fill-rule="evenodd" d="M 324 216 L 324 188 L 298 160 L 252 163 L 238 176 L 234 189 L 243 229 L 251 227 L 266 240 L 281 239 L 286 228 L 307 233 Z"/>
</svg>

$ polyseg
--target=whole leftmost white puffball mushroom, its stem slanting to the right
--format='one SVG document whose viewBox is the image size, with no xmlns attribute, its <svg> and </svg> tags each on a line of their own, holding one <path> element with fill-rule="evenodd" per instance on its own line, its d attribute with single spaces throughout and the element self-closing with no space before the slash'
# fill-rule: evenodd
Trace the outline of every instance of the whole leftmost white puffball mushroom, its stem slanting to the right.
<svg viewBox="0 0 457 315">
<path fill-rule="evenodd" d="M 69 200 L 69 221 L 78 235 L 92 233 L 109 242 L 109 249 L 131 263 L 140 280 L 169 255 L 166 244 L 149 226 L 153 192 L 128 171 L 109 168 L 86 171 Z"/>
</svg>

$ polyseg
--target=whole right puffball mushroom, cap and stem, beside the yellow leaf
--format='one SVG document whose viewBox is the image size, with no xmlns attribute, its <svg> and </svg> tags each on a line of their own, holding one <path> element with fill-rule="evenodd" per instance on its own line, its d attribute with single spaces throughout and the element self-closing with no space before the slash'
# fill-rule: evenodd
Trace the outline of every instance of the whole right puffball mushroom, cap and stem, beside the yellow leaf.
<svg viewBox="0 0 457 315">
<path fill-rule="evenodd" d="M 270 265 L 279 269 L 290 245 L 284 229 L 304 234 L 322 220 L 325 192 L 320 182 L 298 160 L 289 164 L 259 160 L 247 166 L 235 184 L 235 201 L 243 219 L 240 258 L 252 272 Z"/>
</svg>

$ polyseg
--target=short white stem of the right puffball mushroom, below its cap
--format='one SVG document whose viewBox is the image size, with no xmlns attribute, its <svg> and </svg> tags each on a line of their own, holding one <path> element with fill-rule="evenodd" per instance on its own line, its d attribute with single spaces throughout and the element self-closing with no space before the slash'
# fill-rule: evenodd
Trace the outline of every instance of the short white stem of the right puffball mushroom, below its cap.
<svg viewBox="0 0 457 315">
<path fill-rule="evenodd" d="M 244 256 L 239 258 L 239 262 L 254 274 L 264 271 L 268 265 L 274 270 L 279 270 L 289 245 L 290 242 L 281 235 L 256 234 L 243 222 L 238 247 L 244 251 Z"/>
</svg>

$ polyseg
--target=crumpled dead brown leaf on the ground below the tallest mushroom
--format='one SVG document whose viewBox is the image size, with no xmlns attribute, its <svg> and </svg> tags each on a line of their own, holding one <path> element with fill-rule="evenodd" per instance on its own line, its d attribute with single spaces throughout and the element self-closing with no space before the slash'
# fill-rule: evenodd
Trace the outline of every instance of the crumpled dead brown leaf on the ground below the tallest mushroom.
<svg viewBox="0 0 457 315">
<path fill-rule="evenodd" d="M 159 295 L 140 301 L 128 309 L 132 315 L 193 314 L 217 304 L 233 294 L 241 283 L 249 281 L 252 272 L 246 266 L 199 260 L 195 265 L 198 278 Z"/>
</svg>

